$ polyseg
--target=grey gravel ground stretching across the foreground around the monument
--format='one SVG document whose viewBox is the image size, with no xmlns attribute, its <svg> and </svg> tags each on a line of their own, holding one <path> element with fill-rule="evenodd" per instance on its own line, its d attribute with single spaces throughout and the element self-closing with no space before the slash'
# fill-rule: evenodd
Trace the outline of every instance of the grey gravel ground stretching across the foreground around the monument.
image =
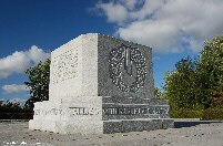
<svg viewBox="0 0 223 146">
<path fill-rule="evenodd" d="M 175 122 L 179 128 L 104 135 L 30 131 L 28 122 L 0 123 L 0 145 L 223 146 L 222 122 Z"/>
</svg>

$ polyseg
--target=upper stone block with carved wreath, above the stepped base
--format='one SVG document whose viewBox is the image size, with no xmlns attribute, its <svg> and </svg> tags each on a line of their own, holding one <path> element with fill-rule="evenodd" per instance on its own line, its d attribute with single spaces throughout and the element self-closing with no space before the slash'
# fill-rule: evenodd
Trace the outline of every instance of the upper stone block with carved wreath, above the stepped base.
<svg viewBox="0 0 223 146">
<path fill-rule="evenodd" d="M 144 45 L 85 34 L 53 51 L 51 63 L 50 101 L 77 96 L 154 96 L 152 49 Z"/>
</svg>

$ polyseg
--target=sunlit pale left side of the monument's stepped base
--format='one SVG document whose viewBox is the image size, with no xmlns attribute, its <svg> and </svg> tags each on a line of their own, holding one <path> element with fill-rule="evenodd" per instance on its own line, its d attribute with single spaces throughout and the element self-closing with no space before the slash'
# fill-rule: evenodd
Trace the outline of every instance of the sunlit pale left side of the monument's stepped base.
<svg viewBox="0 0 223 146">
<path fill-rule="evenodd" d="M 103 132 L 100 96 L 82 96 L 73 101 L 38 102 L 30 129 L 60 134 L 99 134 Z"/>
</svg>

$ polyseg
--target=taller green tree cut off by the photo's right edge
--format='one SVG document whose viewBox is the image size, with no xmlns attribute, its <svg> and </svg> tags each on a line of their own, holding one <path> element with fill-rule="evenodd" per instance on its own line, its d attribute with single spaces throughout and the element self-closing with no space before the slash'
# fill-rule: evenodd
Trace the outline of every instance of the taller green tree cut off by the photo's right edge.
<svg viewBox="0 0 223 146">
<path fill-rule="evenodd" d="M 204 42 L 199 66 L 213 97 L 223 97 L 223 36 Z"/>
</svg>

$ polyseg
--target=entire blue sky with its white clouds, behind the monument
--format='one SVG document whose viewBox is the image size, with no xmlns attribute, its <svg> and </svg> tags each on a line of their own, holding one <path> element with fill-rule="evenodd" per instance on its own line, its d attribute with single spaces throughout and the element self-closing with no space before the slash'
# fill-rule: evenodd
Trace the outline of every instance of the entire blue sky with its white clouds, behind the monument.
<svg viewBox="0 0 223 146">
<path fill-rule="evenodd" d="M 1 0 L 0 100 L 29 98 L 26 69 L 83 33 L 153 48 L 154 80 L 223 33 L 222 0 Z"/>
</svg>

